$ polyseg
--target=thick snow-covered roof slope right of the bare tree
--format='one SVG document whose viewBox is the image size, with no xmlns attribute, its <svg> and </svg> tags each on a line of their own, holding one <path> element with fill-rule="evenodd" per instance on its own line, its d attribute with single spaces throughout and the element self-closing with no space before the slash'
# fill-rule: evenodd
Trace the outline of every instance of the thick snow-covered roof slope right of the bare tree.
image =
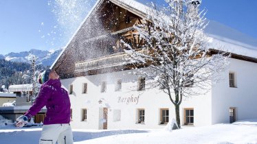
<svg viewBox="0 0 257 144">
<path fill-rule="evenodd" d="M 257 39 L 216 21 L 210 21 L 205 34 L 212 38 L 212 47 L 241 56 L 257 58 Z"/>
</svg>

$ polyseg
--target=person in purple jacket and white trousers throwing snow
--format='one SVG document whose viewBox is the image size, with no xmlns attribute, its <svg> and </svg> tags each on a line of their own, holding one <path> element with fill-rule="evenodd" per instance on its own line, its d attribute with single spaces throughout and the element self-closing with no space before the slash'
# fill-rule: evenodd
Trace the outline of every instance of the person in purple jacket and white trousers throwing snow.
<svg viewBox="0 0 257 144">
<path fill-rule="evenodd" d="M 39 144 L 73 144 L 73 135 L 69 125 L 71 103 L 68 92 L 61 87 L 59 75 L 48 69 L 38 75 L 38 82 L 43 84 L 34 104 L 18 119 L 16 126 L 21 128 L 28 119 L 36 115 L 44 106 L 47 108 Z"/>
</svg>

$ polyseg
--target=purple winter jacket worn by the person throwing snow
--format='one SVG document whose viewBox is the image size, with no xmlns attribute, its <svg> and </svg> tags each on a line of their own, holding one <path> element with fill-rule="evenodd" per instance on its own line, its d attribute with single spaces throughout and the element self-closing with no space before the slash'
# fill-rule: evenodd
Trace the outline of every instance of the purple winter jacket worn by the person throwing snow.
<svg viewBox="0 0 257 144">
<path fill-rule="evenodd" d="M 69 123 L 71 117 L 71 103 L 69 95 L 60 87 L 60 80 L 48 80 L 41 86 L 38 97 L 32 107 L 27 110 L 28 118 L 36 115 L 44 106 L 47 108 L 44 125 Z"/>
</svg>

